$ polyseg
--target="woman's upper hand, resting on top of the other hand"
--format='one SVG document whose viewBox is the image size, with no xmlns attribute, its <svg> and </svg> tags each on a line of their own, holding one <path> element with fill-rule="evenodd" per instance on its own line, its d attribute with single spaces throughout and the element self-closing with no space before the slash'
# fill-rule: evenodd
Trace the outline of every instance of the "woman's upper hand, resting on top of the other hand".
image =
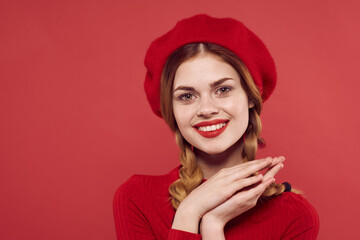
<svg viewBox="0 0 360 240">
<path fill-rule="evenodd" d="M 196 223 L 198 224 L 207 212 L 231 198 L 236 192 L 261 181 L 262 175 L 252 176 L 254 173 L 272 168 L 283 160 L 283 157 L 268 157 L 220 170 L 181 202 L 173 228 L 196 233 Z"/>
</svg>

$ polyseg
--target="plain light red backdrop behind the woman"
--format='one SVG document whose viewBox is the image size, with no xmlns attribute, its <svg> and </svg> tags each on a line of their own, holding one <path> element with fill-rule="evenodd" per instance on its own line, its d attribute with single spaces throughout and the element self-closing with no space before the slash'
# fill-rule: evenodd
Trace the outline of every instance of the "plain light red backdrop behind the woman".
<svg viewBox="0 0 360 240">
<path fill-rule="evenodd" d="M 112 197 L 177 146 L 143 92 L 150 42 L 197 13 L 242 20 L 272 53 L 260 156 L 304 191 L 319 239 L 360 239 L 358 1 L 1 1 L 0 239 L 115 239 Z"/>
</svg>

